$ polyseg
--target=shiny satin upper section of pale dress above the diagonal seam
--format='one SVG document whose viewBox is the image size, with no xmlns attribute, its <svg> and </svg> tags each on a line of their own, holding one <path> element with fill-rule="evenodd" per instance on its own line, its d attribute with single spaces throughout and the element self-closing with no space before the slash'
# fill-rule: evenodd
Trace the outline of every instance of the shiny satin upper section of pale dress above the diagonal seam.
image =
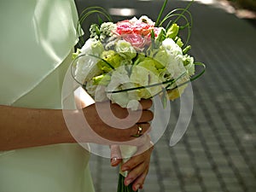
<svg viewBox="0 0 256 192">
<path fill-rule="evenodd" d="M 0 104 L 11 105 L 52 73 L 77 43 L 73 0 L 3 1 Z"/>
</svg>

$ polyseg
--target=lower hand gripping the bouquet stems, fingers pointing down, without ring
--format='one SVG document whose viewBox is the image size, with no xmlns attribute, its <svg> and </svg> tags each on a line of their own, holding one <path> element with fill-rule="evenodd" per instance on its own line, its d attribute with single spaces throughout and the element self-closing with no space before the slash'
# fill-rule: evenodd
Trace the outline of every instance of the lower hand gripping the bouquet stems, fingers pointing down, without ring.
<svg viewBox="0 0 256 192">
<path fill-rule="evenodd" d="M 137 150 L 137 154 L 131 157 L 130 160 L 121 166 L 123 172 L 128 171 L 125 177 L 125 185 L 132 183 L 132 189 L 143 189 L 143 183 L 148 175 L 150 156 L 153 151 L 153 144 L 150 143 L 148 149 L 147 145 L 143 145 Z M 146 149 L 146 150 L 145 150 Z M 143 153 L 141 153 L 143 151 Z M 111 146 L 111 166 L 118 166 L 122 162 L 119 146 Z"/>
</svg>

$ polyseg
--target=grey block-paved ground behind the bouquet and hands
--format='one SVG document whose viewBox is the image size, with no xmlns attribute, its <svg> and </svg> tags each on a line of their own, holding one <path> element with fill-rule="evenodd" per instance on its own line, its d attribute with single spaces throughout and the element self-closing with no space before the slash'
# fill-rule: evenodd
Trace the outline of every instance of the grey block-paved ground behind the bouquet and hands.
<svg viewBox="0 0 256 192">
<path fill-rule="evenodd" d="M 155 17 L 160 3 L 119 1 L 115 7 L 126 5 Z M 170 9 L 185 5 L 169 3 Z M 170 129 L 155 144 L 142 191 L 254 192 L 256 28 L 213 5 L 194 3 L 190 10 L 194 19 L 191 54 L 207 64 L 207 73 L 193 82 L 189 129 L 171 148 L 171 128 L 179 111 L 179 101 L 172 102 Z M 108 159 L 92 154 L 90 166 L 96 192 L 116 191 L 117 170 Z"/>
</svg>

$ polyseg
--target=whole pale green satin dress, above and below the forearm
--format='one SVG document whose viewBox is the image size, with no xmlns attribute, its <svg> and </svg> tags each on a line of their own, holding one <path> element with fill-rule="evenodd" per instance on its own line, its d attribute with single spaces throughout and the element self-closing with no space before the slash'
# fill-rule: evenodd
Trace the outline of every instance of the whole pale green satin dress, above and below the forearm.
<svg viewBox="0 0 256 192">
<path fill-rule="evenodd" d="M 72 0 L 1 2 L 0 104 L 61 108 L 77 21 Z M 2 151 L 0 192 L 93 192 L 89 158 L 76 143 Z"/>
</svg>

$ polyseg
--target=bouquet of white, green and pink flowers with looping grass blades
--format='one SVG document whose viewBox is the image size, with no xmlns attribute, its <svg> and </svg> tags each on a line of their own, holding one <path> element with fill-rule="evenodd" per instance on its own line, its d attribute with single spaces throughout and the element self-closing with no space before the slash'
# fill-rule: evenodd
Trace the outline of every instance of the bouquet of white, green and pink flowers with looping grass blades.
<svg viewBox="0 0 256 192">
<path fill-rule="evenodd" d="M 190 3 L 161 19 L 166 3 L 167 0 L 156 22 L 143 15 L 114 23 L 102 8 L 84 10 L 81 22 L 91 14 L 108 18 L 90 26 L 90 38 L 74 54 L 73 61 L 73 78 L 96 102 L 110 100 L 137 110 L 141 99 L 160 96 L 166 105 L 168 99 L 181 96 L 187 83 L 204 72 L 195 75 L 195 65 L 204 65 L 189 55 Z M 182 19 L 184 24 L 178 25 Z M 180 36 L 183 29 L 188 29 L 185 43 Z M 136 148 L 121 146 L 121 151 L 131 156 Z M 124 186 L 124 177 L 123 173 L 119 177 L 118 190 L 132 191 L 131 186 Z"/>
</svg>

